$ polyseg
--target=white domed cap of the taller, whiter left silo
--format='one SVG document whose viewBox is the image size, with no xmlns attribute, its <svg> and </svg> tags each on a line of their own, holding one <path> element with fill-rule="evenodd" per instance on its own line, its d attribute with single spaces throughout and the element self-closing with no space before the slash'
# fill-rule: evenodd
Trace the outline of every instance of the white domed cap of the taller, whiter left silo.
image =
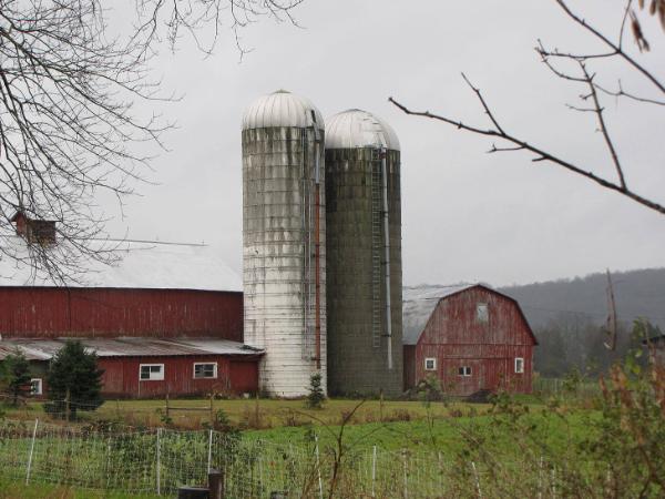
<svg viewBox="0 0 665 499">
<path fill-rule="evenodd" d="M 243 130 L 272 126 L 309 128 L 324 130 L 324 116 L 309 99 L 277 90 L 255 100 L 243 115 Z"/>
</svg>

